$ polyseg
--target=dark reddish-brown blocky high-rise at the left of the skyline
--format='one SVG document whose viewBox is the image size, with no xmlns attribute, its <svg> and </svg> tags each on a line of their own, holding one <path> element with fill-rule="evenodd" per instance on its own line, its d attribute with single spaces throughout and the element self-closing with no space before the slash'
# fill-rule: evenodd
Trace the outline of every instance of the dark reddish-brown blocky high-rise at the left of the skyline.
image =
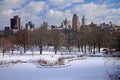
<svg viewBox="0 0 120 80">
<path fill-rule="evenodd" d="M 20 29 L 20 17 L 14 16 L 10 19 L 11 29 Z"/>
</svg>

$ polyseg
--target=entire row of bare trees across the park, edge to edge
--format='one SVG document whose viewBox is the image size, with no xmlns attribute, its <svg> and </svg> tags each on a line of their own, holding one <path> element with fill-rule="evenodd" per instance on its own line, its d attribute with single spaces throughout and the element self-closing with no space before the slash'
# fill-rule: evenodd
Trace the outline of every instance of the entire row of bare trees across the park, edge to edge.
<svg viewBox="0 0 120 80">
<path fill-rule="evenodd" d="M 119 32 L 106 32 L 101 29 L 91 28 L 89 31 L 85 31 L 84 28 L 79 32 L 72 33 L 73 39 L 70 40 L 68 33 L 63 33 L 58 29 L 47 30 L 45 28 L 35 29 L 28 32 L 27 30 L 19 30 L 16 33 L 6 34 L 4 32 L 0 35 L 0 49 L 3 52 L 11 50 L 12 54 L 14 46 L 24 48 L 24 53 L 28 48 L 39 47 L 40 54 L 42 54 L 43 46 L 53 46 L 55 54 L 61 46 L 71 51 L 71 47 L 77 47 L 78 51 L 86 53 L 100 52 L 102 47 L 120 50 L 120 33 Z M 70 36 L 70 37 L 71 37 Z M 71 45 L 72 44 L 72 45 Z"/>
</svg>

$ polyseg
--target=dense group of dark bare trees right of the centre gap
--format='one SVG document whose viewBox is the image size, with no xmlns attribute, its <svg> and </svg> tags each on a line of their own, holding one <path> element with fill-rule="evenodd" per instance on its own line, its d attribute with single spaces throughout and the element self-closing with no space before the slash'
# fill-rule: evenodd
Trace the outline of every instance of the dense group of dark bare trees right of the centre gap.
<svg viewBox="0 0 120 80">
<path fill-rule="evenodd" d="M 90 31 L 81 31 L 76 35 L 75 44 L 78 50 L 86 53 L 86 50 L 95 54 L 101 48 L 108 48 L 112 53 L 120 51 L 120 32 L 109 32 L 102 29 L 91 28 Z"/>
</svg>

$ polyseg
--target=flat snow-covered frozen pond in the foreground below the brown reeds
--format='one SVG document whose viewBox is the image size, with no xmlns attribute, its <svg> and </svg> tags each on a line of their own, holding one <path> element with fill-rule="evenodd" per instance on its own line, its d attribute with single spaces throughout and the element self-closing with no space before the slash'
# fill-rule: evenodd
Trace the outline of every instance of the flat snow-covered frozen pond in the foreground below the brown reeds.
<svg viewBox="0 0 120 80">
<path fill-rule="evenodd" d="M 71 61 L 71 66 L 63 68 L 37 68 L 32 63 L 18 63 L 1 67 L 0 80 L 110 80 L 108 71 L 112 73 L 115 69 L 113 63 L 107 60 L 109 59 L 88 57 Z"/>
</svg>

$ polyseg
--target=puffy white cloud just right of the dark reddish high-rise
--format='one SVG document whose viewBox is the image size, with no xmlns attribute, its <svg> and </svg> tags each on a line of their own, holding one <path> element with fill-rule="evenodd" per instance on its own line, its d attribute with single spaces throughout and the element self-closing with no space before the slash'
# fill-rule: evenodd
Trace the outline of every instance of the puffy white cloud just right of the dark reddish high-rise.
<svg viewBox="0 0 120 80">
<path fill-rule="evenodd" d="M 42 23 L 42 18 L 38 15 L 47 8 L 48 5 L 43 1 L 31 1 L 24 8 L 17 10 L 14 15 L 21 17 L 22 25 L 25 25 L 28 21 L 32 21 L 36 27 L 39 27 Z"/>
</svg>

